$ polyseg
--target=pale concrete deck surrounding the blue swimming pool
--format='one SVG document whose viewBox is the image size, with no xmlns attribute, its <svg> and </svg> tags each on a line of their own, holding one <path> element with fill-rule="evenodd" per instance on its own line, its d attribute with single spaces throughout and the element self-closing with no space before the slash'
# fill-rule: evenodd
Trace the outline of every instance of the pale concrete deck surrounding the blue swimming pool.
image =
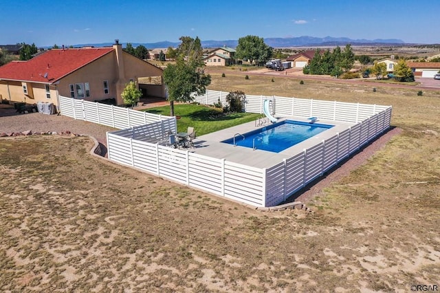
<svg viewBox="0 0 440 293">
<path fill-rule="evenodd" d="M 278 117 L 279 118 L 279 117 Z M 279 118 L 279 121 L 283 120 L 296 120 L 301 122 L 309 122 L 304 117 L 298 116 L 286 116 Z M 269 120 L 267 120 L 269 121 Z M 268 122 L 270 124 L 270 122 Z M 200 155 L 207 155 L 212 158 L 225 159 L 230 162 L 235 162 L 239 164 L 245 164 L 247 166 L 254 166 L 256 168 L 269 168 L 282 162 L 283 159 L 292 158 L 294 155 L 314 146 L 322 140 L 331 138 L 336 133 L 342 132 L 345 129 L 353 126 L 353 122 L 342 122 L 333 120 L 320 120 L 316 121 L 317 124 L 330 124 L 334 125 L 331 129 L 327 129 L 322 133 L 318 133 L 312 138 L 309 138 L 303 142 L 300 142 L 294 146 L 281 151 L 280 153 L 274 153 L 271 151 L 263 150 L 253 150 L 244 146 L 233 146 L 232 144 L 227 144 L 221 142 L 222 140 L 227 140 L 233 138 L 236 133 L 247 133 L 258 128 L 263 128 L 267 124 L 263 124 L 259 127 L 255 126 L 255 122 L 248 122 L 245 124 L 240 124 L 236 127 L 230 127 L 228 129 L 223 129 L 214 133 L 209 133 L 206 135 L 201 135 L 194 140 L 194 148 L 188 149 L 192 153 L 197 153 Z M 197 129 L 195 129 L 197 131 Z M 237 138 L 239 139 L 239 138 Z"/>
</svg>

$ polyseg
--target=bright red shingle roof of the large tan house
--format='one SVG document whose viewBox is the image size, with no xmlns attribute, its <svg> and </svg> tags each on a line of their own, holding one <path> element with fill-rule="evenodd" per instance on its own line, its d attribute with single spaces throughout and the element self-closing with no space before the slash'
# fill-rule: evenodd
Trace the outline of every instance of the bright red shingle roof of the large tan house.
<svg viewBox="0 0 440 293">
<path fill-rule="evenodd" d="M 52 49 L 29 61 L 12 61 L 1 66 L 0 79 L 54 83 L 113 50 L 113 47 Z"/>
</svg>

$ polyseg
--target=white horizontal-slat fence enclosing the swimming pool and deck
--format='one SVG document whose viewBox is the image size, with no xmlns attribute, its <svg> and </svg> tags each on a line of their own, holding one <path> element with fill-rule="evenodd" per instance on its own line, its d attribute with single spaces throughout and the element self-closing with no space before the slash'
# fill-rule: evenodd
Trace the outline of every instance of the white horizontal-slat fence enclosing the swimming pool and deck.
<svg viewBox="0 0 440 293">
<path fill-rule="evenodd" d="M 196 100 L 213 104 L 220 97 L 223 103 L 227 94 L 208 91 Z M 246 111 L 261 113 L 265 98 L 247 96 Z M 292 158 L 275 162 L 267 169 L 172 149 L 150 141 L 150 138 L 159 140 L 166 129 L 175 127 L 175 120 L 107 133 L 109 160 L 252 206 L 274 206 L 386 131 L 391 122 L 391 107 L 386 106 L 270 98 L 276 115 L 318 116 L 356 124 Z"/>
</svg>

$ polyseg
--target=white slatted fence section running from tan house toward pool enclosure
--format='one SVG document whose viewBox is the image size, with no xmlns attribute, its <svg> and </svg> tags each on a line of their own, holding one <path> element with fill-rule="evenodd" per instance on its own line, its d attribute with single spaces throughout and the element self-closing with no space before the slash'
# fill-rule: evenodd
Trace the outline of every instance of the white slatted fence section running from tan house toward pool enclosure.
<svg viewBox="0 0 440 293">
<path fill-rule="evenodd" d="M 129 108 L 115 107 L 100 102 L 89 102 L 60 96 L 61 114 L 78 120 L 85 120 L 117 129 L 126 129 L 153 122 L 174 119 L 153 113 L 137 111 Z"/>
</svg>

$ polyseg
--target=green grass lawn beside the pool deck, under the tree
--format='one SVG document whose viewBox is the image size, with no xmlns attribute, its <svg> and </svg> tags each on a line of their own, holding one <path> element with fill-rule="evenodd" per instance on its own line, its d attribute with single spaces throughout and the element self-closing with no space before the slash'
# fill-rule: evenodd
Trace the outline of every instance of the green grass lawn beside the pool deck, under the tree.
<svg viewBox="0 0 440 293">
<path fill-rule="evenodd" d="M 145 109 L 148 113 L 170 115 L 170 106 Z M 174 105 L 174 113 L 179 116 L 177 131 L 186 131 L 187 127 L 194 127 L 197 135 L 219 131 L 261 117 L 258 113 L 222 113 L 221 109 L 194 104 Z"/>
</svg>

